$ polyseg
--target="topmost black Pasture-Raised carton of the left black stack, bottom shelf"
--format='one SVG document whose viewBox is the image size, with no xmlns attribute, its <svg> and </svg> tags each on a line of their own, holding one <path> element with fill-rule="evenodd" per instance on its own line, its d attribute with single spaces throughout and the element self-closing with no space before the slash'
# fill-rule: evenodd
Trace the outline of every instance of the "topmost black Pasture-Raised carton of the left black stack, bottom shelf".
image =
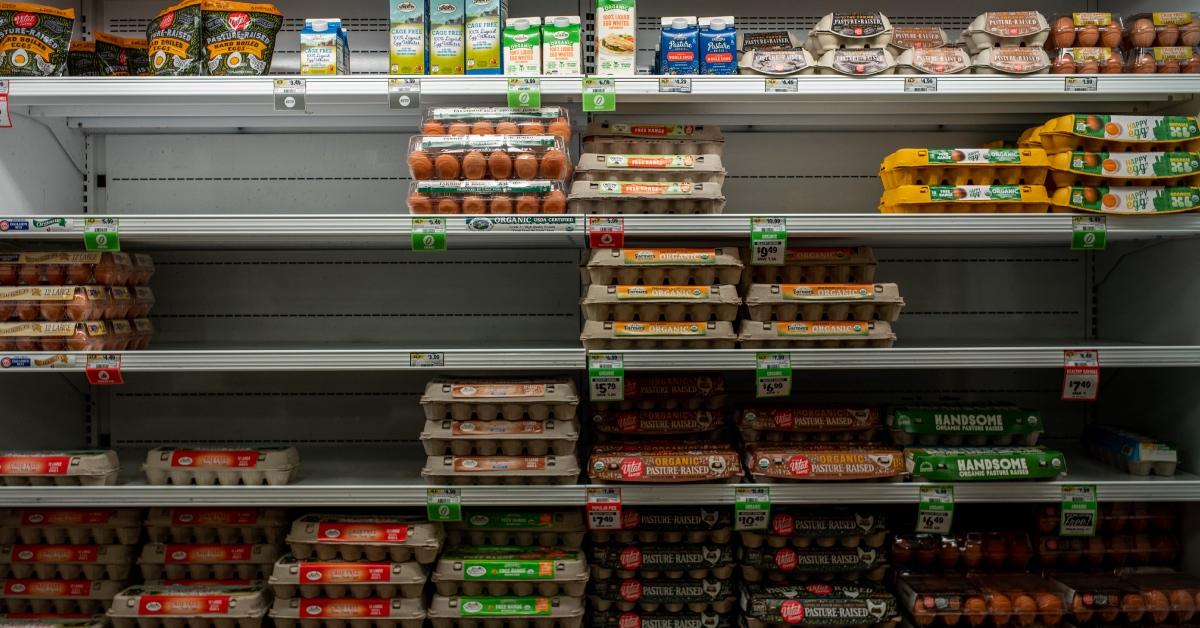
<svg viewBox="0 0 1200 628">
<path fill-rule="evenodd" d="M 593 530 L 593 543 L 725 544 L 733 538 L 727 508 L 706 506 L 625 506 L 620 530 Z"/>
</svg>

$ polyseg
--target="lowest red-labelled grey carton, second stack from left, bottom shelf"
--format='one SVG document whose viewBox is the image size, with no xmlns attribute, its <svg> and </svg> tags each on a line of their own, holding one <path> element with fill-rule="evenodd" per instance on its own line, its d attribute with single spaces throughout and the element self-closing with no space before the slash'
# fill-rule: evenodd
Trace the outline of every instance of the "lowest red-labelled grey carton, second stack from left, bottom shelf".
<svg viewBox="0 0 1200 628">
<path fill-rule="evenodd" d="M 139 585 L 116 593 L 113 628 L 259 628 L 268 608 L 262 582 L 250 585 Z"/>
</svg>

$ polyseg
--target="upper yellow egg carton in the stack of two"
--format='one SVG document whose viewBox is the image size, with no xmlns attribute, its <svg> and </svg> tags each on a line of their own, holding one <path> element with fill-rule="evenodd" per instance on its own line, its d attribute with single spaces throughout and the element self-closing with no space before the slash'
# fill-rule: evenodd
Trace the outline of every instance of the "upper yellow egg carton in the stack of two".
<svg viewBox="0 0 1200 628">
<path fill-rule="evenodd" d="M 1043 185 L 1049 167 L 1042 149 L 905 148 L 880 166 L 884 190 L 901 185 Z"/>
</svg>

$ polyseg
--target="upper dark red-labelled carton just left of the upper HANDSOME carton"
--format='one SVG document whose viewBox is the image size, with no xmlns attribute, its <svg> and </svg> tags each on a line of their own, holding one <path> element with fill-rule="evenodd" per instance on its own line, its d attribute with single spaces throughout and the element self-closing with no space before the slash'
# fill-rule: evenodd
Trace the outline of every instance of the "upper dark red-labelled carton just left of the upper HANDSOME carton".
<svg viewBox="0 0 1200 628">
<path fill-rule="evenodd" d="M 738 409 L 748 443 L 872 441 L 883 426 L 870 406 L 751 405 Z"/>
</svg>

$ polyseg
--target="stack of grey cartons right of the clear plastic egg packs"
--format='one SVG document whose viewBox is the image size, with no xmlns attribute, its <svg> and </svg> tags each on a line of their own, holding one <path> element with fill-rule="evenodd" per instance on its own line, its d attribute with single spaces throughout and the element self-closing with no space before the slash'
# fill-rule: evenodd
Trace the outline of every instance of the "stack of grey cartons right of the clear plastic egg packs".
<svg viewBox="0 0 1200 628">
<path fill-rule="evenodd" d="M 712 125 L 599 121 L 583 136 L 572 214 L 720 214 L 725 137 Z"/>
</svg>

